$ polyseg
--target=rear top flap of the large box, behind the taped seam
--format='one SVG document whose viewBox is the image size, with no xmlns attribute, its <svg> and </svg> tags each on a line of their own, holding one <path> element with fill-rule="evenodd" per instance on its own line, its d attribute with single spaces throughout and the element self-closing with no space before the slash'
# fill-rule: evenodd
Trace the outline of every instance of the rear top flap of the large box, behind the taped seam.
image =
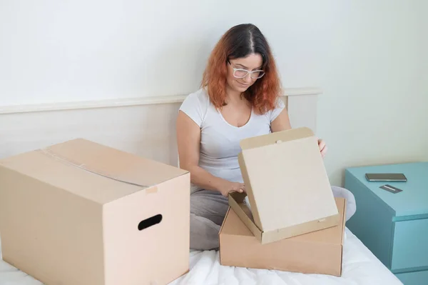
<svg viewBox="0 0 428 285">
<path fill-rule="evenodd" d="M 187 173 L 183 169 L 86 139 L 73 139 L 39 151 L 94 174 L 142 187 L 154 186 Z"/>
</svg>

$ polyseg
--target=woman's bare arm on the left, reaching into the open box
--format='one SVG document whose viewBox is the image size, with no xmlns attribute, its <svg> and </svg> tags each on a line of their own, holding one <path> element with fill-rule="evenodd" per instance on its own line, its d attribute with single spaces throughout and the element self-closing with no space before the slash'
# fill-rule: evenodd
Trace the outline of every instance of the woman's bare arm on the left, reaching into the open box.
<svg viewBox="0 0 428 285">
<path fill-rule="evenodd" d="M 203 189 L 219 191 L 228 196 L 230 191 L 244 191 L 243 184 L 230 182 L 213 176 L 198 166 L 200 151 L 200 127 L 183 111 L 178 112 L 177 118 L 177 144 L 180 168 L 190 171 L 190 181 Z"/>
</svg>

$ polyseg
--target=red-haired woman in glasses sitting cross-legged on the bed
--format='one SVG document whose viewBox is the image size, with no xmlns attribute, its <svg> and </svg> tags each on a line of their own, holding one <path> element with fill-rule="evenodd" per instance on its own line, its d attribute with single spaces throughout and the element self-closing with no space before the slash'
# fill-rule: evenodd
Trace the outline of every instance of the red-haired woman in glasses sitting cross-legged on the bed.
<svg viewBox="0 0 428 285">
<path fill-rule="evenodd" d="M 210 55 L 202 87 L 180 107 L 177 139 L 180 168 L 190 171 L 192 183 L 190 248 L 209 250 L 218 249 L 228 193 L 245 191 L 240 140 L 291 126 L 270 47 L 253 24 L 234 26 L 223 35 Z M 325 142 L 318 144 L 325 156 Z M 355 201 L 345 189 L 333 192 L 346 196 L 348 204 Z"/>
</svg>

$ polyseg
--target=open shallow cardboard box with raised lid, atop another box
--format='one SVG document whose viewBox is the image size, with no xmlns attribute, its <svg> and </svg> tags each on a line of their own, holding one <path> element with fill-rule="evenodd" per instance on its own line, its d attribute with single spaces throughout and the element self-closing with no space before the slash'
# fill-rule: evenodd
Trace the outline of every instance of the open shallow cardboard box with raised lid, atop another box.
<svg viewBox="0 0 428 285">
<path fill-rule="evenodd" d="M 317 138 L 308 128 L 243 139 L 238 156 L 253 219 L 235 192 L 229 204 L 267 244 L 337 226 L 340 216 Z"/>
</svg>

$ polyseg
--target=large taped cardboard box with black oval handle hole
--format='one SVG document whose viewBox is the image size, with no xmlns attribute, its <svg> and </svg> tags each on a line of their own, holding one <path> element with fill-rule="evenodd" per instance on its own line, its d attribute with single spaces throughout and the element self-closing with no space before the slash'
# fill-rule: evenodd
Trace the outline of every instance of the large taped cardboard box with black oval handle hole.
<svg viewBox="0 0 428 285">
<path fill-rule="evenodd" d="M 188 272 L 190 174 L 75 139 L 0 161 L 3 259 L 44 284 Z"/>
</svg>

